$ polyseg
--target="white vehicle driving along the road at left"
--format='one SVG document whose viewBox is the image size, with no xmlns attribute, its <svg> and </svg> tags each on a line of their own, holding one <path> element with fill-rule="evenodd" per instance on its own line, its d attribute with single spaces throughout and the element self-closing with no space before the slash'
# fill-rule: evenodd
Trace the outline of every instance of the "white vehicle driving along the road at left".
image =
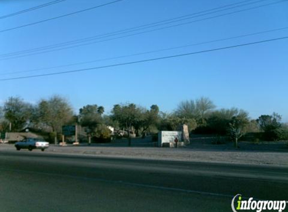
<svg viewBox="0 0 288 212">
<path fill-rule="evenodd" d="M 15 147 L 17 150 L 28 149 L 29 151 L 32 151 L 33 149 L 41 149 L 41 151 L 44 151 L 49 147 L 49 143 L 43 139 L 26 138 L 20 142 L 15 143 Z"/>
</svg>

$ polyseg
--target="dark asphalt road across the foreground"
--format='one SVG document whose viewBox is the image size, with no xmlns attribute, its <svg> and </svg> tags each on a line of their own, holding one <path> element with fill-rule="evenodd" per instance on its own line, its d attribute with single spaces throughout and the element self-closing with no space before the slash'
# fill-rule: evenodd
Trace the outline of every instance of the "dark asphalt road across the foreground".
<svg viewBox="0 0 288 212">
<path fill-rule="evenodd" d="M 288 200 L 288 167 L 0 151 L 1 212 L 224 212 L 238 193 Z"/>
</svg>

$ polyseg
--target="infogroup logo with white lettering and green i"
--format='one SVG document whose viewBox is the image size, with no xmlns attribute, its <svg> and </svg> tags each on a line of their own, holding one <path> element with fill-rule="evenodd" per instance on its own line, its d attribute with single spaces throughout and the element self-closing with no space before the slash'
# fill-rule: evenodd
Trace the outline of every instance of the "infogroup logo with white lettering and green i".
<svg viewBox="0 0 288 212">
<path fill-rule="evenodd" d="M 237 194 L 232 199 L 231 207 L 233 212 L 239 212 L 241 210 L 256 210 L 256 212 L 274 210 L 281 212 L 285 209 L 287 202 L 286 200 L 253 200 L 253 197 L 248 198 L 248 200 L 243 200 L 242 195 Z"/>
</svg>

